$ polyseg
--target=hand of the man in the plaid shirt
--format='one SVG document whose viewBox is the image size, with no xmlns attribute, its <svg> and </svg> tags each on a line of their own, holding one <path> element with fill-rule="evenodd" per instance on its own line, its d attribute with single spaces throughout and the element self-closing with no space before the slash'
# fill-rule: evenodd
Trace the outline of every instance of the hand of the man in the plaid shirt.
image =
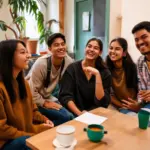
<svg viewBox="0 0 150 150">
<path fill-rule="evenodd" d="M 142 101 L 150 102 L 150 90 L 141 90 L 138 96 Z"/>
</svg>

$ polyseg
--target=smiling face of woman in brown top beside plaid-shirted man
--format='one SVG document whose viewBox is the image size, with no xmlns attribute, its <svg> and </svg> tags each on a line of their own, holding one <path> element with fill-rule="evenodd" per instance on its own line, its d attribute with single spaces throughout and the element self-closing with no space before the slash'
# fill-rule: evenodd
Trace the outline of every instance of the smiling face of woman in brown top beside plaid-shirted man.
<svg viewBox="0 0 150 150">
<path fill-rule="evenodd" d="M 119 44 L 118 41 L 114 41 L 110 44 L 109 50 L 108 50 L 108 55 L 111 61 L 116 62 L 116 61 L 122 61 L 123 59 L 123 48 Z"/>
</svg>

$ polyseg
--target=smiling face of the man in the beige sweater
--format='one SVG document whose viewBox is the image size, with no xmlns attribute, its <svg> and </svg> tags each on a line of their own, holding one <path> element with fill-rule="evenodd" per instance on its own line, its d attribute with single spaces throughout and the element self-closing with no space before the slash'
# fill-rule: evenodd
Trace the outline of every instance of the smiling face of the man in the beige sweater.
<svg viewBox="0 0 150 150">
<path fill-rule="evenodd" d="M 62 38 L 56 38 L 49 50 L 54 58 L 64 58 L 66 56 L 66 43 Z"/>
</svg>

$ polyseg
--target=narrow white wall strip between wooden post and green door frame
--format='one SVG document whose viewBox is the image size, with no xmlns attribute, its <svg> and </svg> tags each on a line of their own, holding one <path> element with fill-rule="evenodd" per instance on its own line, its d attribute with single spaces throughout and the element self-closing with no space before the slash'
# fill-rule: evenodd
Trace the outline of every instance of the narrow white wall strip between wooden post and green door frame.
<svg viewBox="0 0 150 150">
<path fill-rule="evenodd" d="M 73 52 L 74 47 L 74 1 L 65 0 L 65 36 L 69 52 Z"/>
</svg>

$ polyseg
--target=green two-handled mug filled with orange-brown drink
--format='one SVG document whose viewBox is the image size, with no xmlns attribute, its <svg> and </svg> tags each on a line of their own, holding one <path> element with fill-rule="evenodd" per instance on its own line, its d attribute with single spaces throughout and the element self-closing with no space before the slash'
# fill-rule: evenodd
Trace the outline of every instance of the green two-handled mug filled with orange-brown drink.
<svg viewBox="0 0 150 150">
<path fill-rule="evenodd" d="M 84 128 L 84 131 L 87 132 L 89 140 L 93 142 L 100 142 L 104 137 L 104 134 L 107 133 L 107 131 L 104 131 L 104 127 L 98 124 L 88 125 L 87 128 Z"/>
</svg>

